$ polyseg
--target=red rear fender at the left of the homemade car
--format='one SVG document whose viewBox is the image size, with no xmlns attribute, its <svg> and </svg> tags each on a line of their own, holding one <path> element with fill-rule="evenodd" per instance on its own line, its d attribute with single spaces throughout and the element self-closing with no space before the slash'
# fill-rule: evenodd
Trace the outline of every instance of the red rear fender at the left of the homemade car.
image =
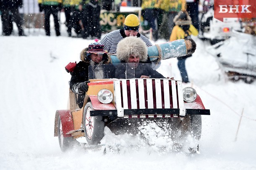
<svg viewBox="0 0 256 170">
<path fill-rule="evenodd" d="M 58 118 L 62 124 L 63 136 L 71 137 L 71 134 L 67 134 L 69 131 L 74 130 L 73 118 L 70 110 L 57 110 L 55 113 L 55 125 L 54 125 L 54 136 L 58 136 Z"/>
</svg>

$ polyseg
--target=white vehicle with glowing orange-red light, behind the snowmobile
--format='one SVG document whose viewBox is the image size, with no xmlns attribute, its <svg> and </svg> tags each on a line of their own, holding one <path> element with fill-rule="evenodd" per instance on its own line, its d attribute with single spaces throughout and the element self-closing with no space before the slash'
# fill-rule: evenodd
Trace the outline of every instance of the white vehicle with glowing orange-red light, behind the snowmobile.
<svg viewBox="0 0 256 170">
<path fill-rule="evenodd" d="M 232 30 L 241 31 L 241 22 L 239 18 L 223 18 L 223 22 L 217 20 L 214 16 L 214 9 L 209 10 L 201 18 L 201 39 L 209 39 L 210 43 L 216 44 L 232 36 Z"/>
</svg>

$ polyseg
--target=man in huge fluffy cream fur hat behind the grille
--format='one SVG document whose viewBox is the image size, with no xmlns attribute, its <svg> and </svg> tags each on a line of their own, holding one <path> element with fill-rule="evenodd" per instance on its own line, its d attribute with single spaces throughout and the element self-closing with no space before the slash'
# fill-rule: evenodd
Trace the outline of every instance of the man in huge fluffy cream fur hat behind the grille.
<svg viewBox="0 0 256 170">
<path fill-rule="evenodd" d="M 117 57 L 121 64 L 116 66 L 116 78 L 165 78 L 152 69 L 150 64 L 139 64 L 148 58 L 148 50 L 144 41 L 135 36 L 124 38 L 118 43 Z M 127 63 L 127 64 L 125 64 Z"/>
</svg>

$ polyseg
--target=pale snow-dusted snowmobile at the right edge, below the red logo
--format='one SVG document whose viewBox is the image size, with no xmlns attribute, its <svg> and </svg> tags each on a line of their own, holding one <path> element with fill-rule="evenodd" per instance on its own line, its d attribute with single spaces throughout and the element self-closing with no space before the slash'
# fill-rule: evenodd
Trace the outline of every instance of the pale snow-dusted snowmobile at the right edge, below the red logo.
<svg viewBox="0 0 256 170">
<path fill-rule="evenodd" d="M 229 80 L 244 80 L 252 83 L 256 79 L 256 36 L 233 31 L 233 36 L 208 47 Z"/>
</svg>

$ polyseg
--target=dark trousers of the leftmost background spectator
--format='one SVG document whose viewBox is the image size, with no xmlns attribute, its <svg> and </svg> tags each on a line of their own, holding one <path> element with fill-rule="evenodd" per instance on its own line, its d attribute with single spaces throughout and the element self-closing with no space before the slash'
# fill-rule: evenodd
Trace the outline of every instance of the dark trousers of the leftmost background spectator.
<svg viewBox="0 0 256 170">
<path fill-rule="evenodd" d="M 2 21 L 3 21 L 3 34 L 9 36 L 12 32 L 12 22 L 10 22 L 10 15 L 12 20 L 16 23 L 18 27 L 18 34 L 19 36 L 23 35 L 23 28 L 22 28 L 22 18 L 20 13 L 18 12 L 18 8 L 12 9 L 3 9 L 2 10 Z"/>
</svg>

